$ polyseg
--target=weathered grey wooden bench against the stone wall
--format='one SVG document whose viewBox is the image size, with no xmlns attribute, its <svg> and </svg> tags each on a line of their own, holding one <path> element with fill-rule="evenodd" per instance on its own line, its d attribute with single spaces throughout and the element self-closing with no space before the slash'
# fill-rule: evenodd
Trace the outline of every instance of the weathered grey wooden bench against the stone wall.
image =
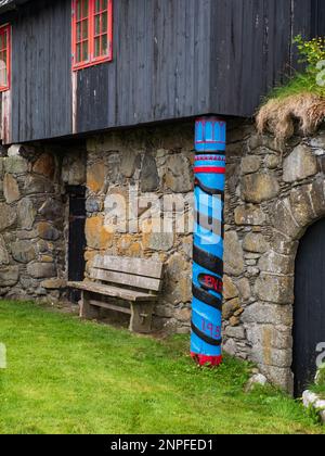
<svg viewBox="0 0 325 456">
<path fill-rule="evenodd" d="M 159 262 L 98 255 L 90 270 L 90 279 L 68 282 L 68 287 L 82 291 L 81 318 L 99 319 L 101 307 L 121 312 L 131 316 L 132 332 L 148 333 L 154 303 L 161 288 L 161 276 L 162 263 Z M 110 304 L 107 297 L 127 301 L 130 305 Z"/>
</svg>

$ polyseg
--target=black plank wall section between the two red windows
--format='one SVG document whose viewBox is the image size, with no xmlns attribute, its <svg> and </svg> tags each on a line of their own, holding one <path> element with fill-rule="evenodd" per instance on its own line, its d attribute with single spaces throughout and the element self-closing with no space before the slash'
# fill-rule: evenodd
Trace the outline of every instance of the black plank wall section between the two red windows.
<svg viewBox="0 0 325 456">
<path fill-rule="evenodd" d="M 12 24 L 14 142 L 72 132 L 70 14 L 68 0 L 41 0 Z"/>
</svg>

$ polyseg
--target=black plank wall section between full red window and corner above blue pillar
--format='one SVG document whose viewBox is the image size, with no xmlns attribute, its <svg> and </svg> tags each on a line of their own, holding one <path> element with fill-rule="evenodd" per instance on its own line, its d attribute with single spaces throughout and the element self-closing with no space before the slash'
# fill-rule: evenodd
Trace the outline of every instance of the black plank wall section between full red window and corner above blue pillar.
<svg viewBox="0 0 325 456">
<path fill-rule="evenodd" d="M 115 1 L 113 62 L 78 74 L 78 131 L 207 112 L 210 7 Z"/>
</svg>

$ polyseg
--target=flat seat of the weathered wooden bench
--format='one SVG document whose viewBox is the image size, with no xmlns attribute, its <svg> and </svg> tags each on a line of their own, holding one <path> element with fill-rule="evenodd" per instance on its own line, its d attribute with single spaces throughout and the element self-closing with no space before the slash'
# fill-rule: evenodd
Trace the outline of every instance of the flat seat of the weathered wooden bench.
<svg viewBox="0 0 325 456">
<path fill-rule="evenodd" d="M 92 293 L 103 294 L 104 296 L 118 297 L 126 301 L 156 301 L 158 299 L 155 294 L 143 293 L 141 291 L 126 290 L 113 286 L 94 283 L 90 280 L 83 282 L 68 282 L 68 287 L 77 290 L 90 291 Z"/>
</svg>

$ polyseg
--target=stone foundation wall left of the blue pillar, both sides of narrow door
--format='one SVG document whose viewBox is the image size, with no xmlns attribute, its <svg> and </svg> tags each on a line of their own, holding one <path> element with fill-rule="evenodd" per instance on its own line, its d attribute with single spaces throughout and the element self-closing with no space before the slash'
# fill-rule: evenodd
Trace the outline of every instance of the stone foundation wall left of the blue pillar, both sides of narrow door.
<svg viewBox="0 0 325 456">
<path fill-rule="evenodd" d="M 84 185 L 86 276 L 98 253 L 159 258 L 165 263 L 165 277 L 155 328 L 188 332 L 193 138 L 193 125 L 179 124 L 91 137 L 79 147 L 3 149 L 1 295 L 65 299 L 66 186 Z"/>
</svg>

